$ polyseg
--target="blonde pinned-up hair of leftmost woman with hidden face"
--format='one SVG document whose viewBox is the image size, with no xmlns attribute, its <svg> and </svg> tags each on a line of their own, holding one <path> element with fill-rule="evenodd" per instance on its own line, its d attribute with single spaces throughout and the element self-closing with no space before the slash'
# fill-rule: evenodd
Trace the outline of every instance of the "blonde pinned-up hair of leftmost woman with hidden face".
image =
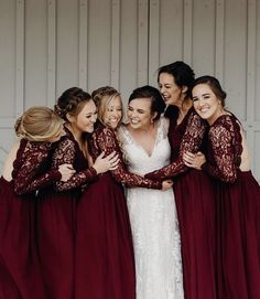
<svg viewBox="0 0 260 299">
<path fill-rule="evenodd" d="M 47 141 L 62 131 L 63 120 L 51 108 L 34 106 L 18 118 L 14 129 L 29 141 Z"/>
</svg>

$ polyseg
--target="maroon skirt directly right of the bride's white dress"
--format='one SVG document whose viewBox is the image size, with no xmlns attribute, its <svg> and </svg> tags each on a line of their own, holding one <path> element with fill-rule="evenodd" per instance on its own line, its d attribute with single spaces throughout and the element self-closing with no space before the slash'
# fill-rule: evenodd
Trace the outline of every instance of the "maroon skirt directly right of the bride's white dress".
<svg viewBox="0 0 260 299">
<path fill-rule="evenodd" d="M 216 202 L 210 179 L 198 170 L 176 178 L 185 299 L 217 298 Z"/>
</svg>

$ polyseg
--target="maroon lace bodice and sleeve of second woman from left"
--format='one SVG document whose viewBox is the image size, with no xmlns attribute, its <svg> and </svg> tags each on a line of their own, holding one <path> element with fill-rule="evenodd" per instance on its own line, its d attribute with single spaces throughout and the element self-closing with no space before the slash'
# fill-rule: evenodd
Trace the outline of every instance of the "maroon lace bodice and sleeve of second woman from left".
<svg viewBox="0 0 260 299">
<path fill-rule="evenodd" d="M 97 172 L 94 168 L 88 168 L 87 159 L 78 147 L 72 132 L 65 128 L 66 136 L 64 136 L 57 143 L 53 154 L 53 167 L 67 163 L 72 164 L 76 170 L 75 174 L 66 181 L 58 181 L 55 184 L 57 191 L 67 191 L 75 188 L 83 188 L 86 183 L 91 182 L 97 178 Z"/>
</svg>

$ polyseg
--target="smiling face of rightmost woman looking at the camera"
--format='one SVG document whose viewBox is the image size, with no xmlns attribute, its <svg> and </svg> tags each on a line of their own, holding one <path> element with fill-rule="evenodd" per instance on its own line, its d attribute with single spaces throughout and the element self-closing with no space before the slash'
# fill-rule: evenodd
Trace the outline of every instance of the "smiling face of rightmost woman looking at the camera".
<svg viewBox="0 0 260 299">
<path fill-rule="evenodd" d="M 197 114 L 212 125 L 223 113 L 221 100 L 208 84 L 198 84 L 193 90 L 193 105 Z"/>
</svg>

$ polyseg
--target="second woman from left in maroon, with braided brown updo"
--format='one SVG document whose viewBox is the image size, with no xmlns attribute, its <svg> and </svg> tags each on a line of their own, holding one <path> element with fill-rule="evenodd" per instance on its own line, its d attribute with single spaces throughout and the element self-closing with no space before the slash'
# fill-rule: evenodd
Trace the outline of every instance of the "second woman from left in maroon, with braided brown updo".
<svg viewBox="0 0 260 299">
<path fill-rule="evenodd" d="M 75 209 L 80 190 L 98 178 L 98 173 L 117 163 L 117 157 L 97 157 L 89 167 L 85 135 L 94 131 L 97 109 L 90 95 L 78 87 L 65 90 L 55 111 L 64 119 L 66 135 L 57 143 L 53 167 L 72 164 L 76 173 L 55 188 L 42 190 L 39 197 L 39 253 L 48 299 L 72 299 L 74 296 Z"/>
</svg>

